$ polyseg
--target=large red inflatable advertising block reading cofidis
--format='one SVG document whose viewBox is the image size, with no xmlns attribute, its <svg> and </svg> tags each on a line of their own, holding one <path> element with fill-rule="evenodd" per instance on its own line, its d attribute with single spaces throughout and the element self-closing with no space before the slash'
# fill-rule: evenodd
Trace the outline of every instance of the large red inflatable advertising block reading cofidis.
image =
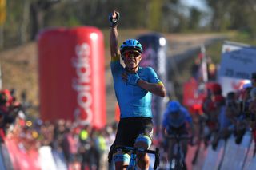
<svg viewBox="0 0 256 170">
<path fill-rule="evenodd" d="M 92 26 L 44 30 L 38 36 L 42 120 L 106 125 L 104 42 Z"/>
</svg>

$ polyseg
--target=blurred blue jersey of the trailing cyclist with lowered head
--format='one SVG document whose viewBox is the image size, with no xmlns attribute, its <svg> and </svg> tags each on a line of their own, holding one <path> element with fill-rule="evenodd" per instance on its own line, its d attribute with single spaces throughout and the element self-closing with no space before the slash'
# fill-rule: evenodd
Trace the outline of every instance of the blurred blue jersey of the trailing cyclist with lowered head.
<svg viewBox="0 0 256 170">
<path fill-rule="evenodd" d="M 185 122 L 188 122 L 188 123 L 192 122 L 192 117 L 190 116 L 190 113 L 185 107 L 181 106 L 178 117 L 173 117 L 173 114 L 170 113 L 170 105 L 167 106 L 165 112 L 163 113 L 163 118 L 162 118 L 163 128 L 168 128 L 168 127 L 179 128 Z"/>
</svg>

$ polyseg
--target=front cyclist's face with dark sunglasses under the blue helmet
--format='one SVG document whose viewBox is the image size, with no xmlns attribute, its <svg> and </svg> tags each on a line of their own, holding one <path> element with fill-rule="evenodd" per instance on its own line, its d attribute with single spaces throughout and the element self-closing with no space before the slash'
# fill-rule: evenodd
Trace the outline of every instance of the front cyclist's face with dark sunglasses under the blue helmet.
<svg viewBox="0 0 256 170">
<path fill-rule="evenodd" d="M 138 67 L 138 63 L 142 60 L 141 53 L 136 50 L 127 50 L 122 53 L 122 59 L 126 67 L 133 69 Z"/>
</svg>

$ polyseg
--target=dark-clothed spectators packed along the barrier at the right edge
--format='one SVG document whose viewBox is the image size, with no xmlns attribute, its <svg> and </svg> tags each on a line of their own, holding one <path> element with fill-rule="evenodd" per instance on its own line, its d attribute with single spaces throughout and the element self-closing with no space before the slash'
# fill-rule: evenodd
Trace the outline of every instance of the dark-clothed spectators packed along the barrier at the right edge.
<svg viewBox="0 0 256 170">
<path fill-rule="evenodd" d="M 255 97 L 256 88 L 252 79 L 237 91 L 230 91 L 222 96 L 222 87 L 218 83 L 207 87 L 207 96 L 202 103 L 202 117 L 205 121 L 205 143 L 209 142 L 215 149 L 218 140 L 227 140 L 232 134 L 236 144 L 242 142 L 244 134 L 255 131 Z M 256 136 L 253 136 L 256 142 Z"/>
</svg>

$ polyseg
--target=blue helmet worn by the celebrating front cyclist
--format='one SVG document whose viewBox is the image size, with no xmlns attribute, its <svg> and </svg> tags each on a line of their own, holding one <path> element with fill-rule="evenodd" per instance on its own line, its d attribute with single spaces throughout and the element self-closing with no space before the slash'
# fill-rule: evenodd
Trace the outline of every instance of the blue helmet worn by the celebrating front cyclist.
<svg viewBox="0 0 256 170">
<path fill-rule="evenodd" d="M 123 53 L 127 49 L 138 50 L 139 53 L 143 52 L 142 44 L 135 39 L 128 39 L 126 42 L 123 42 L 120 46 L 120 53 Z"/>
</svg>

